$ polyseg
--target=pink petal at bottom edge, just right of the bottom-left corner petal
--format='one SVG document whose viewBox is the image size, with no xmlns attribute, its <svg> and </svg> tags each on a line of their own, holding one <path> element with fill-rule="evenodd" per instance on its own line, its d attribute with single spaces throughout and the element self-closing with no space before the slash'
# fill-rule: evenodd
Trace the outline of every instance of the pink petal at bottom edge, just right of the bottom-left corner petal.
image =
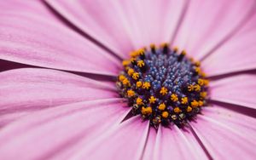
<svg viewBox="0 0 256 160">
<path fill-rule="evenodd" d="M 114 129 L 108 129 L 98 139 L 84 143 L 70 159 L 139 160 L 148 136 L 148 121 L 131 117 Z"/>
</svg>

